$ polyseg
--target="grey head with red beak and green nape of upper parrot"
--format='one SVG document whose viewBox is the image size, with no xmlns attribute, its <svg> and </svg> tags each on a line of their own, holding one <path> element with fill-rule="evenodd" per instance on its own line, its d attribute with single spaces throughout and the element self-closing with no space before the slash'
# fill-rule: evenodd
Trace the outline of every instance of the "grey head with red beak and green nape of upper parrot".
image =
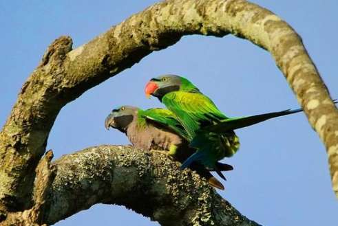
<svg viewBox="0 0 338 226">
<path fill-rule="evenodd" d="M 162 100 L 162 97 L 173 91 L 190 91 L 191 89 L 198 90 L 187 78 L 175 75 L 164 75 L 156 78 L 151 78 L 145 86 L 145 95 Z"/>
</svg>

